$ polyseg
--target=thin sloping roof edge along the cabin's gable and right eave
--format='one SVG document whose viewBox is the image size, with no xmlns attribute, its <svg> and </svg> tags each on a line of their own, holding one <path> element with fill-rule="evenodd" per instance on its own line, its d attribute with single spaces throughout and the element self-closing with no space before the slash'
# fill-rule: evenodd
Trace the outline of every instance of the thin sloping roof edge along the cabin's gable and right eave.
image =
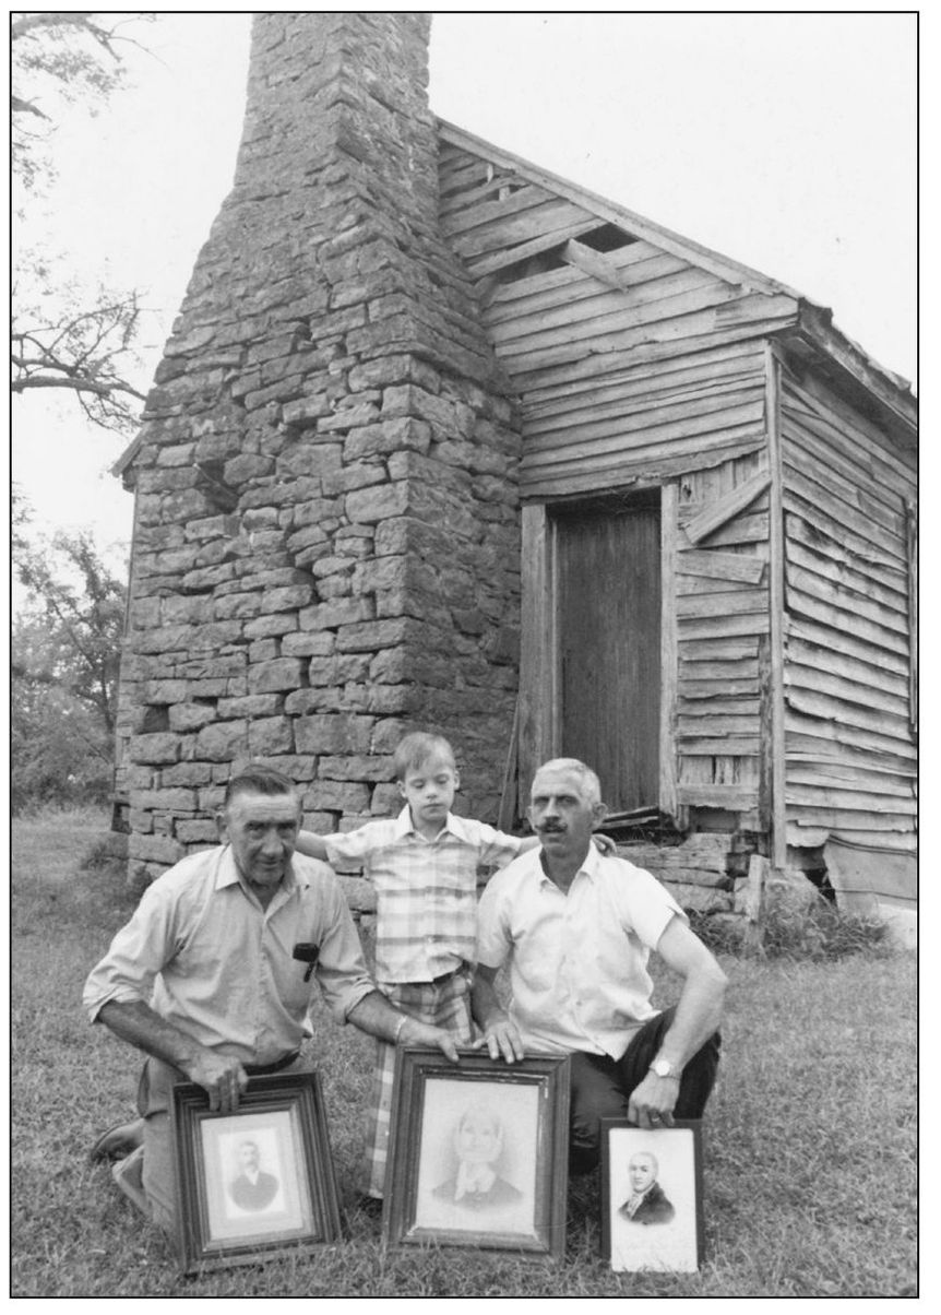
<svg viewBox="0 0 941 1315">
<path fill-rule="evenodd" d="M 796 320 L 783 326 L 774 337 L 796 348 L 799 354 L 811 355 L 823 362 L 827 373 L 844 375 L 844 379 L 854 385 L 854 391 L 862 389 L 879 404 L 883 412 L 900 419 L 906 427 L 915 427 L 917 423 L 917 402 L 909 381 L 879 364 L 858 343 L 848 338 L 833 323 L 832 312 L 827 306 L 814 302 L 803 293 L 761 274 L 758 270 L 752 270 L 739 260 L 712 251 L 710 247 L 636 214 L 589 188 L 541 168 L 531 160 L 513 155 L 447 120 L 438 120 L 438 130 L 443 142 L 492 163 L 503 174 L 515 174 L 527 183 L 553 192 L 593 212 L 605 222 L 614 224 L 636 238 L 740 287 L 743 292 L 791 297 L 795 302 Z"/>
</svg>

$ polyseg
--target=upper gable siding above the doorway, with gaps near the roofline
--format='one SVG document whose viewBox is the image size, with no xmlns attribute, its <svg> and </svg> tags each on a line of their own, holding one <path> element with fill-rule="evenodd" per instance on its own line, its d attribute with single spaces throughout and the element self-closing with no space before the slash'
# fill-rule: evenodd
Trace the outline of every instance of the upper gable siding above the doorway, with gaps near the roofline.
<svg viewBox="0 0 941 1315">
<path fill-rule="evenodd" d="M 794 321 L 792 297 L 722 279 L 448 142 L 439 176 L 442 227 L 519 394 L 523 497 L 657 483 L 764 444 L 756 345 Z"/>
</svg>

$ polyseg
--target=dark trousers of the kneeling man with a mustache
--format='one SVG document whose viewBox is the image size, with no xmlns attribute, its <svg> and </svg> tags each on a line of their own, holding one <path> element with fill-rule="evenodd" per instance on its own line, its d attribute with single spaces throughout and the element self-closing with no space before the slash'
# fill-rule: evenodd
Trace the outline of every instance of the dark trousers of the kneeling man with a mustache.
<svg viewBox="0 0 941 1315">
<path fill-rule="evenodd" d="M 608 1055 L 572 1056 L 572 1107 L 569 1114 L 569 1172 L 587 1173 L 601 1156 L 599 1119 L 626 1119 L 631 1091 L 639 1086 L 660 1052 L 676 1007 L 649 1019 L 635 1032 L 619 1060 Z M 674 1119 L 699 1119 L 706 1109 L 719 1068 L 719 1032 L 714 1032 L 683 1069 Z"/>
</svg>

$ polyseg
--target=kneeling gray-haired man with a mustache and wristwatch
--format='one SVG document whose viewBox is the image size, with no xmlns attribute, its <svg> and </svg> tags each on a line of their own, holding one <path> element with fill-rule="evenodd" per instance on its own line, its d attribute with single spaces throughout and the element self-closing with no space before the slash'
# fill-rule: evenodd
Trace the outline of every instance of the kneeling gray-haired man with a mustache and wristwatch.
<svg viewBox="0 0 941 1315">
<path fill-rule="evenodd" d="M 591 844 L 605 805 L 589 767 L 543 764 L 528 815 L 540 847 L 481 897 L 473 1013 L 492 1059 L 570 1055 L 569 1168 L 586 1173 L 603 1118 L 641 1128 L 700 1118 L 719 1064 L 725 974 L 649 872 Z M 662 1013 L 651 1005 L 651 951 L 683 978 Z M 507 960 L 509 1011 L 494 985 Z"/>
</svg>

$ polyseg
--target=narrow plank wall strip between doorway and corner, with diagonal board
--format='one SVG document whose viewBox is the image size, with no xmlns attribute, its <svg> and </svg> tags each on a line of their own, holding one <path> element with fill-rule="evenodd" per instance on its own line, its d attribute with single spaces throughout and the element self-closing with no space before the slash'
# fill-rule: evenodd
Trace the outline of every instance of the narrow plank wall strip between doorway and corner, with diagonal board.
<svg viewBox="0 0 941 1315">
<path fill-rule="evenodd" d="M 677 801 L 739 813 L 739 826 L 752 831 L 768 823 L 760 661 L 769 630 L 768 534 L 765 451 L 679 480 Z"/>
</svg>

